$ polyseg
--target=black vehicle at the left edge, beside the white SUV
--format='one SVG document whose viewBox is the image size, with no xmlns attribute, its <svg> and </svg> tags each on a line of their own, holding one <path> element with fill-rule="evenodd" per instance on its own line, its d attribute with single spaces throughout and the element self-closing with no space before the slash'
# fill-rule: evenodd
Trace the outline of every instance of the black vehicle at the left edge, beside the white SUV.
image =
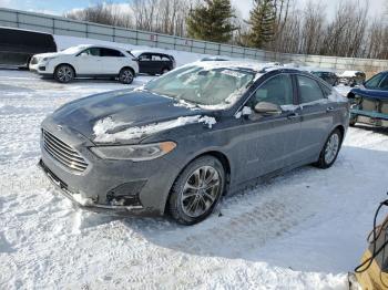
<svg viewBox="0 0 388 290">
<path fill-rule="evenodd" d="M 0 65 L 28 68 L 33 54 L 55 51 L 49 33 L 0 27 Z"/>
</svg>

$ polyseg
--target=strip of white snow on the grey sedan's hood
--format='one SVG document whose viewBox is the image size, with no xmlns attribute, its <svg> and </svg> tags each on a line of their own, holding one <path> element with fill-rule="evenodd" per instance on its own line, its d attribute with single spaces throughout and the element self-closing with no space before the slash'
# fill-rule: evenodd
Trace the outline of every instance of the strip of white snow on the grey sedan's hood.
<svg viewBox="0 0 388 290">
<path fill-rule="evenodd" d="M 216 121 L 214 117 L 202 116 L 202 115 L 182 116 L 171 121 L 153 123 L 145 126 L 129 127 L 123 131 L 115 132 L 118 128 L 124 127 L 131 124 L 126 124 L 123 122 L 114 122 L 111 117 L 105 117 L 103 120 L 99 120 L 93 126 L 93 132 L 95 135 L 94 142 L 113 143 L 113 142 L 123 141 L 123 139 L 136 139 L 145 135 L 152 135 L 161 131 L 180 127 L 187 124 L 194 124 L 194 123 L 204 123 L 210 128 L 212 128 L 212 126 L 216 124 Z"/>
</svg>

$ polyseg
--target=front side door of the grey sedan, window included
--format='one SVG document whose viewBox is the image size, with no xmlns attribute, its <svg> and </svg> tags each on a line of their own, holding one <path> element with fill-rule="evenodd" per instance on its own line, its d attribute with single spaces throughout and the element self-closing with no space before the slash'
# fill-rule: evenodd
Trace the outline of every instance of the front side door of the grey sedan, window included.
<svg viewBox="0 0 388 290">
<path fill-rule="evenodd" d="M 278 115 L 254 113 L 259 102 L 283 106 Z M 282 73 L 259 85 L 245 104 L 253 112 L 242 117 L 238 126 L 239 168 L 237 178 L 241 182 L 256 178 L 280 169 L 289 163 L 297 149 L 300 134 L 300 116 L 295 108 L 294 85 L 289 74 Z M 246 108 L 245 108 L 246 110 Z"/>
</svg>

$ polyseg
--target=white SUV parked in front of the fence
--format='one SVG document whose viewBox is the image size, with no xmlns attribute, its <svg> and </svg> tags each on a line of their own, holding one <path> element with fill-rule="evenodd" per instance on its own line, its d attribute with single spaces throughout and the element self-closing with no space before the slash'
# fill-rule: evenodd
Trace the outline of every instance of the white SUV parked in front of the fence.
<svg viewBox="0 0 388 290">
<path fill-rule="evenodd" d="M 61 52 L 35 54 L 30 70 L 51 75 L 61 83 L 74 77 L 119 77 L 132 83 L 139 73 L 139 64 L 125 50 L 103 45 L 78 45 Z"/>
</svg>

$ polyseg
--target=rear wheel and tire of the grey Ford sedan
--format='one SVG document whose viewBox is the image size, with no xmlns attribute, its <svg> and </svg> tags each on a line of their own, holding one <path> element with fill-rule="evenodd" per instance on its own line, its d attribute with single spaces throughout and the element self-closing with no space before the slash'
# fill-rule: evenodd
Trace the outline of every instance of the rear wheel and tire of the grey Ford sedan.
<svg viewBox="0 0 388 290">
<path fill-rule="evenodd" d="M 341 143 L 343 134 L 336 128 L 326 139 L 325 146 L 319 154 L 319 159 L 315 165 L 323 169 L 331 167 L 337 159 Z"/>
</svg>

